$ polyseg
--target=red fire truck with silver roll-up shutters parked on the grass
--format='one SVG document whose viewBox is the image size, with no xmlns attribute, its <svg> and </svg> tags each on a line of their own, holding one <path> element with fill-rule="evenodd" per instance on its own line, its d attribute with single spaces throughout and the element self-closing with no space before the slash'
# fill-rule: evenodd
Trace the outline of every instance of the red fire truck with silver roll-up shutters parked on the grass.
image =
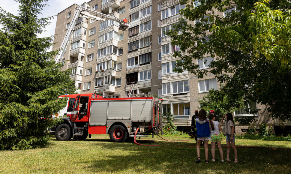
<svg viewBox="0 0 291 174">
<path fill-rule="evenodd" d="M 159 134 L 159 100 L 152 96 L 105 98 L 92 94 L 62 95 L 67 98 L 63 122 L 50 128 L 57 140 L 84 140 L 92 134 L 109 134 L 113 142 Z"/>
</svg>

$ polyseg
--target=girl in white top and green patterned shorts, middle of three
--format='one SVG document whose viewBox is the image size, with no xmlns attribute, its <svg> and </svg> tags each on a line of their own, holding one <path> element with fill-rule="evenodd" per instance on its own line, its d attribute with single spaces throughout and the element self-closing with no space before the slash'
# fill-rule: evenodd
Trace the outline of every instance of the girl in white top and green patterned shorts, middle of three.
<svg viewBox="0 0 291 174">
<path fill-rule="evenodd" d="M 221 147 L 221 137 L 220 137 L 220 131 L 221 126 L 219 124 L 219 122 L 215 121 L 215 116 L 211 113 L 208 115 L 208 119 L 209 119 L 209 123 L 210 123 L 210 142 L 211 142 L 211 154 L 212 154 L 212 160 L 211 161 L 215 161 L 214 155 L 215 155 L 215 142 L 217 143 L 217 147 L 219 149 L 219 153 L 220 153 L 220 161 L 224 162 L 223 160 L 223 151 L 222 151 L 222 147 Z"/>
</svg>

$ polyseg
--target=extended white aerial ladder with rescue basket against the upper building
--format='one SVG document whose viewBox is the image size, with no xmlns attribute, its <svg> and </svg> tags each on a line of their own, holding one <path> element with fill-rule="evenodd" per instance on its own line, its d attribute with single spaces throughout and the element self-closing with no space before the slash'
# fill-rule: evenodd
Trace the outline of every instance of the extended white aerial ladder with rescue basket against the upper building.
<svg viewBox="0 0 291 174">
<path fill-rule="evenodd" d="M 89 13 L 93 13 L 96 16 L 91 15 Z M 125 31 L 125 30 L 128 29 L 129 22 L 130 22 L 126 18 L 123 18 L 122 20 L 120 20 L 120 19 L 118 19 L 116 17 L 112 17 L 112 16 L 109 16 L 109 15 L 106 15 L 106 14 L 103 14 L 103 13 L 99 13 L 97 11 L 84 8 L 84 7 L 82 7 L 82 5 L 79 5 L 76 8 L 76 12 L 75 12 L 75 14 L 73 16 L 73 19 L 72 19 L 72 21 L 70 23 L 69 28 L 67 29 L 67 33 L 66 33 L 66 35 L 64 37 L 64 40 L 61 43 L 60 53 L 55 57 L 55 62 L 56 63 L 58 63 L 62 59 L 62 57 L 64 56 L 64 53 L 66 52 L 67 46 L 70 43 L 70 37 L 71 37 L 71 35 L 73 33 L 73 28 L 75 27 L 76 20 L 78 19 L 78 17 L 86 17 L 88 19 L 94 19 L 94 20 L 97 20 L 97 21 L 98 20 L 106 21 L 106 20 L 110 19 L 110 20 L 118 22 L 119 23 L 119 30 L 122 30 L 122 31 Z"/>
</svg>

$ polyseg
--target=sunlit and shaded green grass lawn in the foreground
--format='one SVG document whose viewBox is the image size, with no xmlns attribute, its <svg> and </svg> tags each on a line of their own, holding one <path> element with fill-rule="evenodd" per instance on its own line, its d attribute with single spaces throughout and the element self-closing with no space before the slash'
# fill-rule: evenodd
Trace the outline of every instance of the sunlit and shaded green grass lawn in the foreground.
<svg viewBox="0 0 291 174">
<path fill-rule="evenodd" d="M 189 136 L 163 136 L 170 140 L 193 140 Z M 195 139 L 194 139 L 195 140 Z M 167 142 L 142 137 L 141 144 L 195 146 L 195 142 Z M 226 141 L 223 140 L 223 144 Z M 236 139 L 236 146 L 291 148 L 291 142 Z M 210 145 L 210 143 L 209 143 Z M 201 161 L 205 160 L 200 148 Z M 211 158 L 211 148 L 208 148 Z M 112 143 L 109 135 L 92 135 L 85 141 L 57 141 L 51 136 L 46 148 L 0 151 L 0 173 L 290 173 L 291 150 L 237 148 L 239 163 L 216 161 L 196 164 L 196 147 L 152 147 L 135 143 Z M 223 148 L 226 158 L 226 148 Z M 230 159 L 234 160 L 232 149 Z"/>
</svg>

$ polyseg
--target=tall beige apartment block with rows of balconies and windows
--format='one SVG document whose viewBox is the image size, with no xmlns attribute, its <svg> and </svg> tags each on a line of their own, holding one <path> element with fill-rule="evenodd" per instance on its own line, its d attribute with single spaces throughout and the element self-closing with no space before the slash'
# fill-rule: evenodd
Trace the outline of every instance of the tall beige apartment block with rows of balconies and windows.
<svg viewBox="0 0 291 174">
<path fill-rule="evenodd" d="M 59 49 L 78 4 L 72 4 L 57 16 L 53 49 Z M 79 17 L 73 29 L 70 44 L 62 61 L 63 70 L 70 69 L 80 93 L 96 93 L 107 97 L 125 97 L 134 94 L 155 94 L 163 98 L 163 113 L 171 111 L 174 123 L 184 129 L 191 126 L 191 116 L 198 109 L 198 99 L 209 88 L 218 89 L 219 84 L 211 74 L 203 79 L 184 70 L 173 72 L 177 59 L 172 52 L 179 46 L 171 43 L 163 31 L 179 22 L 179 10 L 185 7 L 179 0 L 91 0 L 82 7 L 116 18 L 130 19 L 129 29 L 121 31 L 112 20 L 95 21 Z M 228 10 L 235 9 L 235 5 Z M 224 15 L 223 13 L 219 15 Z M 187 54 L 187 53 L 185 53 Z M 208 62 L 215 61 L 205 55 Z M 197 61 L 200 68 L 208 68 L 203 60 Z M 265 106 L 246 104 L 248 108 Z M 244 109 L 235 116 L 249 116 Z M 268 120 L 267 112 L 259 122 Z M 236 132 L 247 131 L 247 126 L 238 126 Z"/>
</svg>

